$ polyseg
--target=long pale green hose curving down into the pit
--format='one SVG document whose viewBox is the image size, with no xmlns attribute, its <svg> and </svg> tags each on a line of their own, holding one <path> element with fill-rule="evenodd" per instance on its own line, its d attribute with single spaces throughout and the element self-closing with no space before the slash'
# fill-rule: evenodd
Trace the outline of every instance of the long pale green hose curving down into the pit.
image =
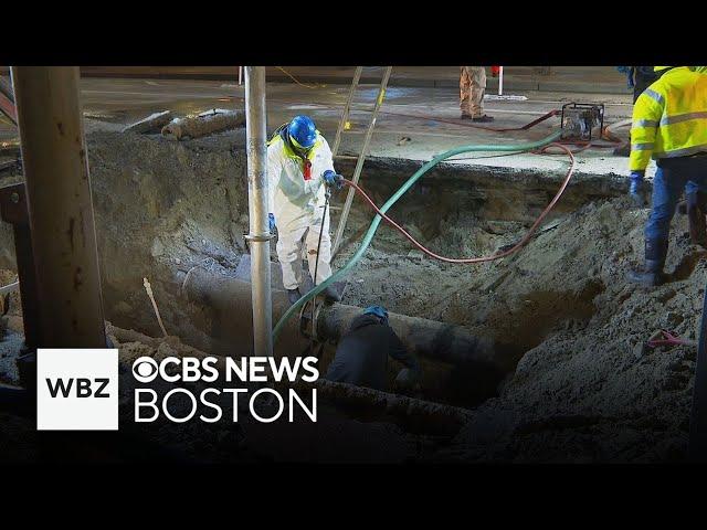
<svg viewBox="0 0 707 530">
<path fill-rule="evenodd" d="M 420 177 L 422 177 L 429 170 L 434 168 L 441 161 L 446 160 L 447 158 L 451 158 L 451 157 L 453 157 L 455 155 L 461 155 L 463 152 L 469 152 L 469 151 L 530 151 L 532 149 L 538 149 L 540 147 L 547 146 L 548 144 L 551 144 L 551 142 L 556 141 L 557 139 L 560 138 L 561 135 L 562 135 L 562 131 L 557 131 L 557 132 L 553 132 L 552 135 L 548 136 L 547 138 L 544 138 L 541 140 L 534 141 L 534 142 L 530 142 L 530 144 L 515 144 L 515 145 L 509 145 L 509 146 L 484 146 L 484 145 L 476 145 L 475 146 L 475 145 L 471 145 L 471 146 L 461 146 L 461 147 L 456 147 L 454 149 L 450 149 L 449 151 L 445 151 L 442 155 L 437 155 L 432 160 L 430 160 L 428 163 L 422 166 L 412 177 L 410 177 L 405 181 L 404 184 L 402 184 L 400 187 L 400 189 L 398 189 L 398 191 L 395 193 L 393 193 L 393 195 L 390 199 L 388 199 L 388 202 L 386 202 L 386 204 L 383 204 L 380 210 L 381 210 L 381 212 L 387 213 L 388 210 L 395 202 L 398 202 L 398 200 L 410 188 L 412 188 L 412 186 L 420 179 Z M 376 216 L 373 218 L 373 221 L 371 222 L 371 225 L 368 229 L 368 232 L 366 232 L 366 235 L 363 236 L 363 241 L 361 242 L 361 246 L 358 247 L 358 251 L 356 251 L 356 254 L 354 254 L 351 256 L 351 258 L 346 263 L 346 265 L 344 265 L 340 269 L 338 269 L 336 273 L 334 273 L 327 279 L 325 279 L 319 285 L 317 285 L 314 289 L 312 289 L 305 296 L 299 298 L 293 306 L 289 307 L 289 309 L 287 309 L 287 311 L 285 311 L 285 314 L 282 316 L 282 318 L 279 319 L 279 321 L 275 326 L 275 329 L 273 329 L 273 342 L 275 342 L 277 340 L 277 336 L 282 331 L 282 329 L 285 326 L 285 324 L 287 322 L 287 320 L 289 320 L 295 314 L 297 314 L 299 311 L 299 309 L 302 308 L 302 306 L 304 306 L 307 301 L 309 301 L 315 296 L 317 296 L 319 293 L 321 293 L 324 289 L 326 289 L 334 282 L 337 282 L 338 279 L 342 278 L 351 268 L 354 268 L 354 265 L 356 265 L 359 262 L 359 259 L 361 257 L 363 257 L 363 253 L 366 253 L 366 250 L 371 244 L 371 241 L 373 240 L 373 236 L 376 235 L 376 231 L 378 230 L 378 225 L 380 224 L 382 219 L 383 218 L 381 218 L 380 215 L 376 214 Z"/>
</svg>

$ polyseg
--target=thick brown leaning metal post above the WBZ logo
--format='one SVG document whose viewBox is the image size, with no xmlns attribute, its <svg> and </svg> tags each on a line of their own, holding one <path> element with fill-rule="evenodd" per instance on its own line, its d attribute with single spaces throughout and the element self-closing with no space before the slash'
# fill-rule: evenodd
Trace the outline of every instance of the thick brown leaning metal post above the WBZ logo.
<svg viewBox="0 0 707 530">
<path fill-rule="evenodd" d="M 78 67 L 13 66 L 44 348 L 105 348 Z"/>
</svg>

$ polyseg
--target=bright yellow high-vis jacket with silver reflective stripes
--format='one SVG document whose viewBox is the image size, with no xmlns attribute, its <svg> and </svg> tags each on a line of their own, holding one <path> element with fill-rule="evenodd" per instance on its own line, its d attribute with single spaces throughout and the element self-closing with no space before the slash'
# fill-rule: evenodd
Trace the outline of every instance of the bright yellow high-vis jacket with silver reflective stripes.
<svg viewBox="0 0 707 530">
<path fill-rule="evenodd" d="M 689 66 L 667 71 L 633 106 L 631 171 L 654 159 L 707 152 L 707 75 Z"/>
</svg>

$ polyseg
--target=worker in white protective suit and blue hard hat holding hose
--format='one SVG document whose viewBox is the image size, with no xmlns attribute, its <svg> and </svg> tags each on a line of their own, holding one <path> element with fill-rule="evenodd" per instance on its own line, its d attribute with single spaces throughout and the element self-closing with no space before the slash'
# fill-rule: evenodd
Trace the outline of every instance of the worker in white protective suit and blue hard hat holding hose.
<svg viewBox="0 0 707 530">
<path fill-rule="evenodd" d="M 331 276 L 329 212 L 327 209 L 325 215 L 324 208 L 326 188 L 341 189 L 344 178 L 334 170 L 331 149 L 308 116 L 295 116 L 274 132 L 267 144 L 267 178 L 271 231 L 277 226 L 277 258 L 287 296 L 294 304 L 302 297 L 303 239 L 315 285 Z M 328 303 L 340 299 L 331 286 L 323 294 Z"/>
</svg>

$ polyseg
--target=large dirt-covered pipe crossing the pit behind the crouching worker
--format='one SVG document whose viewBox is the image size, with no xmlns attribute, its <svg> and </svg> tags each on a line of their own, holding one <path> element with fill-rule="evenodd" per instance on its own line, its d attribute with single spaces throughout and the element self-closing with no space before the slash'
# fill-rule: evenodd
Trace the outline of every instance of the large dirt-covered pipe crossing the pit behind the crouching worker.
<svg viewBox="0 0 707 530">
<path fill-rule="evenodd" d="M 250 283 L 202 268 L 191 271 L 182 282 L 182 294 L 187 299 L 210 312 L 211 332 L 215 338 L 234 344 L 239 339 L 244 343 L 252 338 Z M 272 300 L 273 316 L 278 318 L 289 307 L 287 296 L 282 290 L 273 290 Z M 346 304 L 321 307 L 316 316 L 318 338 L 338 341 L 361 311 L 360 307 Z M 234 321 L 238 322 L 236 328 L 233 328 Z M 289 320 L 276 344 L 276 353 L 299 353 L 300 348 L 306 348 L 307 339 L 303 337 L 299 325 L 297 318 Z M 461 326 L 394 312 L 390 314 L 390 325 L 405 346 L 422 358 L 484 367 L 494 372 L 507 372 L 511 368 L 505 365 L 503 348 L 498 348 L 494 340 L 473 336 Z M 235 330 L 235 335 L 225 335 L 228 326 Z"/>
</svg>

